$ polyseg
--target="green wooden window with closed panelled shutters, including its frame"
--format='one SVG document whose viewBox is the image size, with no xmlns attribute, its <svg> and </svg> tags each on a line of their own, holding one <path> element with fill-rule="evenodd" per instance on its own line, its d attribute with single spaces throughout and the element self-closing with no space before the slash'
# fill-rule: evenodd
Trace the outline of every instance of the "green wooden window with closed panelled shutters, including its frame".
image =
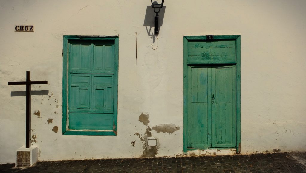
<svg viewBox="0 0 306 173">
<path fill-rule="evenodd" d="M 63 135 L 117 135 L 118 36 L 63 37 Z"/>
</svg>

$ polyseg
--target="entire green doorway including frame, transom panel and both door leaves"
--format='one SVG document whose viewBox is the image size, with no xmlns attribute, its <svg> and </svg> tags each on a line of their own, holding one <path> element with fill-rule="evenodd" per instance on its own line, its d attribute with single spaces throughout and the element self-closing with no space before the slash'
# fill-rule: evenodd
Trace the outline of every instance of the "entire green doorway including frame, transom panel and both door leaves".
<svg viewBox="0 0 306 173">
<path fill-rule="evenodd" d="M 240 36 L 184 37 L 184 153 L 240 152 Z"/>
</svg>

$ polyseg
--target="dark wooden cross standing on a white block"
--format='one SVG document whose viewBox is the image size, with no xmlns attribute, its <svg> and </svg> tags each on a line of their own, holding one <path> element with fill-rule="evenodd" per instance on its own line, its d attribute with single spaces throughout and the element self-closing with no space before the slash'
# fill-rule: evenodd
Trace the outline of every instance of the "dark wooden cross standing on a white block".
<svg viewBox="0 0 306 173">
<path fill-rule="evenodd" d="M 31 85 L 32 84 L 48 84 L 48 81 L 30 81 L 30 72 L 27 71 L 27 81 L 22 82 L 8 82 L 9 85 L 26 85 L 26 130 L 25 130 L 25 148 L 29 148 L 31 145 Z"/>
</svg>

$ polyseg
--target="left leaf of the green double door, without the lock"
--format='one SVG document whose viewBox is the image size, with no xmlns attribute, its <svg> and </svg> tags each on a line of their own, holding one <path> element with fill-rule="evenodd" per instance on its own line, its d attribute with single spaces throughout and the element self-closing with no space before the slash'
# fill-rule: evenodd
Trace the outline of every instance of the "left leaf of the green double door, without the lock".
<svg viewBox="0 0 306 173">
<path fill-rule="evenodd" d="M 211 104 L 208 104 L 211 70 L 205 67 L 188 67 L 190 108 L 188 109 L 188 146 L 201 148 L 211 146 L 210 114 Z"/>
</svg>

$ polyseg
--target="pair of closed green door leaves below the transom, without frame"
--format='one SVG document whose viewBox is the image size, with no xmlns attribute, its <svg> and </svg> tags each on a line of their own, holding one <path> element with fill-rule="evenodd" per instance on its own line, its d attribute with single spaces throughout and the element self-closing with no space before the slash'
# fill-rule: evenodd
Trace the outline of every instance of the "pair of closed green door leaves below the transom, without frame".
<svg viewBox="0 0 306 173">
<path fill-rule="evenodd" d="M 188 66 L 187 147 L 236 146 L 236 66 Z"/>
</svg>

